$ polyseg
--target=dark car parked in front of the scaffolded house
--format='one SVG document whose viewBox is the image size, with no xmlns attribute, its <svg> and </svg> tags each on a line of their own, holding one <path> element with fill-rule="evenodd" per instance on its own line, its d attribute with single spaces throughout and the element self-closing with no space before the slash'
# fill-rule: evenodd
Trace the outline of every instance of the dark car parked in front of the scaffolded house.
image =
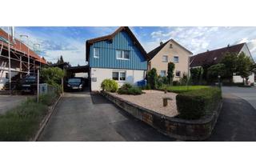
<svg viewBox="0 0 256 168">
<path fill-rule="evenodd" d="M 22 94 L 30 93 L 34 94 L 37 91 L 37 80 L 36 76 L 26 76 L 22 78 Z"/>
</svg>

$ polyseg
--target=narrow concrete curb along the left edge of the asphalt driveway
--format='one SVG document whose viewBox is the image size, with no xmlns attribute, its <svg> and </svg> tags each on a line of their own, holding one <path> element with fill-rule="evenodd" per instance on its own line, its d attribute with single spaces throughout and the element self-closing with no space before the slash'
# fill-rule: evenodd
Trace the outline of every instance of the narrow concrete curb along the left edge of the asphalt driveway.
<svg viewBox="0 0 256 168">
<path fill-rule="evenodd" d="M 58 102 L 61 100 L 61 98 L 62 98 L 62 94 L 59 96 L 58 100 L 54 103 L 54 105 L 50 106 L 50 108 L 48 110 L 49 114 L 47 114 L 46 117 L 42 119 L 42 122 L 40 123 L 40 129 L 38 130 L 37 134 L 35 134 L 32 142 L 38 141 L 38 138 L 42 134 L 42 131 L 45 129 L 46 124 L 49 122 L 50 117 L 54 113 L 55 107 L 58 105 Z"/>
</svg>

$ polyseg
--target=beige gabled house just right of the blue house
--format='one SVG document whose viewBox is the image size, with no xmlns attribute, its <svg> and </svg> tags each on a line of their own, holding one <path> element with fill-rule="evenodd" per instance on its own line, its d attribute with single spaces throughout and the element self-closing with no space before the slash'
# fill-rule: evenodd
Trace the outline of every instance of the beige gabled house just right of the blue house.
<svg viewBox="0 0 256 168">
<path fill-rule="evenodd" d="M 168 62 L 174 62 L 174 81 L 182 78 L 183 74 L 188 74 L 189 58 L 193 53 L 184 46 L 170 39 L 148 53 L 150 61 L 148 70 L 155 68 L 160 76 L 167 76 Z"/>
</svg>

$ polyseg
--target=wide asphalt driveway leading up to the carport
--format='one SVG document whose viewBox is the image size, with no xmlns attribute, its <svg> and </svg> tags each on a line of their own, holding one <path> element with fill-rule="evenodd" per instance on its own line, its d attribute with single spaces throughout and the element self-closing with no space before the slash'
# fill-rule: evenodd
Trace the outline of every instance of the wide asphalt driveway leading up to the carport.
<svg viewBox="0 0 256 168">
<path fill-rule="evenodd" d="M 65 93 L 39 141 L 171 141 L 100 94 Z"/>
</svg>

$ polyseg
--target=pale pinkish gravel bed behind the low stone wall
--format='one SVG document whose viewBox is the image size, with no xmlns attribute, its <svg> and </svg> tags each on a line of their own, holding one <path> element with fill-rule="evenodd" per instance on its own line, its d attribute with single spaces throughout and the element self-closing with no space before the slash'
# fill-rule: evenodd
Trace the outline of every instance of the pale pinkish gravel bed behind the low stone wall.
<svg viewBox="0 0 256 168">
<path fill-rule="evenodd" d="M 174 93 L 167 92 L 166 94 L 163 91 L 159 90 L 143 90 L 145 94 L 141 95 L 126 95 L 126 94 L 114 94 L 118 98 L 125 99 L 129 102 L 133 102 L 138 106 L 142 106 L 149 110 L 154 110 L 159 114 L 164 114 L 169 117 L 174 117 L 178 115 L 178 110 L 176 106 L 176 95 Z M 162 98 L 172 98 L 173 100 L 168 100 L 168 106 L 162 106 Z"/>
</svg>

